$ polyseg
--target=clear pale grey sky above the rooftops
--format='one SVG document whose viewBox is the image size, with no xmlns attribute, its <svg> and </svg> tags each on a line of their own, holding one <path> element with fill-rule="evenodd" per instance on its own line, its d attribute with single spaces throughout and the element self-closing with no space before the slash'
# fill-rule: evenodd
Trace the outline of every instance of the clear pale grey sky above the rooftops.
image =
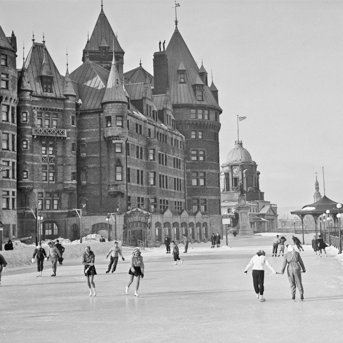
<svg viewBox="0 0 343 343">
<path fill-rule="evenodd" d="M 240 140 L 258 164 L 260 189 L 279 208 L 312 203 L 319 191 L 343 201 L 343 1 L 178 0 L 178 28 L 193 57 L 219 90 L 220 157 Z M 45 35 L 58 70 L 82 62 L 101 0 L 0 0 L 0 25 L 14 30 L 17 67 Z M 174 31 L 173 0 L 103 0 L 125 51 L 124 72 L 153 73 L 158 42 Z M 209 77 L 210 79 L 210 77 Z"/>
</svg>

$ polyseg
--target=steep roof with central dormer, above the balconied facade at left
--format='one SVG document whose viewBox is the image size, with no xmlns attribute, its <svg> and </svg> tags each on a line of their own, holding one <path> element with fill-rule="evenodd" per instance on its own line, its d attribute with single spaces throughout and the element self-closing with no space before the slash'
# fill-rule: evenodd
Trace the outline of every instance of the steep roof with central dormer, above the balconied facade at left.
<svg viewBox="0 0 343 343">
<path fill-rule="evenodd" d="M 44 51 L 45 50 L 45 51 Z M 43 93 L 40 75 L 43 72 L 43 60 L 45 66 L 49 69 L 49 76 L 52 76 L 52 90 L 51 96 L 63 97 L 63 78 L 58 72 L 47 48 L 42 43 L 33 43 L 32 47 L 25 60 L 25 69 L 27 79 L 33 91 L 33 95 L 50 96 L 48 93 Z M 44 74 L 48 73 L 45 69 Z"/>
</svg>

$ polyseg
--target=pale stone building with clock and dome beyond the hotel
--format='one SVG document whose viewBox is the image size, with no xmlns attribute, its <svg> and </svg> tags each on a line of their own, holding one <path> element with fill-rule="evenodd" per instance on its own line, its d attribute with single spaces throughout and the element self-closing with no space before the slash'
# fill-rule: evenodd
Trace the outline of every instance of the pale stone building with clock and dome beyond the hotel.
<svg viewBox="0 0 343 343">
<path fill-rule="evenodd" d="M 239 227 L 235 211 L 240 194 L 245 195 L 246 206 L 250 208 L 249 222 L 253 232 L 277 231 L 277 205 L 264 199 L 257 164 L 242 141 L 236 141 L 221 165 L 221 214 L 227 217 L 224 225 L 231 231 L 235 231 L 237 225 Z"/>
</svg>

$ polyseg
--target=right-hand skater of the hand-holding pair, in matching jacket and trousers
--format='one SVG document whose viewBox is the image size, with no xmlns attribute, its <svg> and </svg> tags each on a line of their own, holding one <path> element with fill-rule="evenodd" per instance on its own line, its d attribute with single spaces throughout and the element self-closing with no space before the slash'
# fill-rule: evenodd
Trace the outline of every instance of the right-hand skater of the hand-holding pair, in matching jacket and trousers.
<svg viewBox="0 0 343 343">
<path fill-rule="evenodd" d="M 291 293 L 292 293 L 292 299 L 295 299 L 295 291 L 296 287 L 298 287 L 299 293 L 300 293 L 300 299 L 304 299 L 304 289 L 302 287 L 301 283 L 301 273 L 305 272 L 305 266 L 304 263 L 302 262 L 300 254 L 294 250 L 293 245 L 288 245 L 287 246 L 288 252 L 286 253 L 283 264 L 282 264 L 282 269 L 281 269 L 281 274 L 285 272 L 286 265 L 287 266 L 287 276 L 288 280 L 291 285 Z"/>
</svg>

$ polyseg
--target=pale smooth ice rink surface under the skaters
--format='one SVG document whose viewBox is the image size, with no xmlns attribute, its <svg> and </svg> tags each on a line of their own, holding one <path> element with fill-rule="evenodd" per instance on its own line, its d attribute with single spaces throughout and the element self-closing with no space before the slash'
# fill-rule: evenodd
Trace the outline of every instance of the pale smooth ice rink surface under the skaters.
<svg viewBox="0 0 343 343">
<path fill-rule="evenodd" d="M 299 238 L 301 235 L 297 235 Z M 289 243 L 292 234 L 286 235 Z M 310 243 L 311 236 L 305 238 Z M 81 260 L 65 260 L 50 277 L 36 267 L 5 268 L 0 287 L 0 343 L 6 342 L 343 342 L 343 274 L 337 250 L 315 257 L 301 252 L 304 301 L 291 300 L 286 273 L 265 273 L 266 302 L 253 291 L 251 270 L 243 271 L 260 248 L 271 257 L 273 237 L 230 238 L 228 246 L 189 245 L 181 265 L 164 246 L 143 250 L 144 279 L 125 294 L 133 248 L 124 247 L 115 273 L 105 274 L 106 256 L 96 256 L 97 296 L 90 297 Z M 225 242 L 222 242 L 223 245 Z M 68 247 L 66 246 L 66 249 Z M 287 251 L 287 250 L 286 250 Z M 135 282 L 135 281 L 134 281 Z"/>
</svg>

